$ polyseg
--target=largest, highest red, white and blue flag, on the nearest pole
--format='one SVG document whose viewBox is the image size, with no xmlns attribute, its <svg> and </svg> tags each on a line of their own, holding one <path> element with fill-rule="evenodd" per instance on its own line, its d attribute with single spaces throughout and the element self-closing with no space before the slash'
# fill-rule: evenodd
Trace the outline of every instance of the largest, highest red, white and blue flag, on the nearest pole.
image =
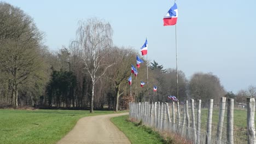
<svg viewBox="0 0 256 144">
<path fill-rule="evenodd" d="M 167 14 L 164 17 L 164 26 L 173 26 L 176 25 L 178 19 L 178 8 L 176 3 L 170 8 Z"/>
</svg>

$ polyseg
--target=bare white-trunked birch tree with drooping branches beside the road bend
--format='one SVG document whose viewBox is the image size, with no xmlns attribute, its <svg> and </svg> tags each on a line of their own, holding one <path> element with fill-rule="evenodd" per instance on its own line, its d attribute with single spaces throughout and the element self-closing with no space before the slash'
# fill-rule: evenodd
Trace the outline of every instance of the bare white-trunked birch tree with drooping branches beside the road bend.
<svg viewBox="0 0 256 144">
<path fill-rule="evenodd" d="M 73 43 L 83 49 L 83 63 L 85 73 L 88 73 L 92 81 L 92 94 L 90 112 L 94 112 L 95 83 L 106 70 L 113 65 L 103 63 L 105 52 L 112 47 L 112 27 L 108 22 L 96 18 L 80 21 L 77 29 L 77 40 Z"/>
</svg>

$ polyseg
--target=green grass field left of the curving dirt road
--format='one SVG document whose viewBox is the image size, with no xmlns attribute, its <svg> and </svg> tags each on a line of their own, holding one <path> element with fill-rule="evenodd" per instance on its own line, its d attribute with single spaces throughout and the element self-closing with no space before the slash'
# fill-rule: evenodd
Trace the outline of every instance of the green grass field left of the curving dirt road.
<svg viewBox="0 0 256 144">
<path fill-rule="evenodd" d="M 0 143 L 56 143 L 79 118 L 113 111 L 0 110 Z"/>
</svg>

